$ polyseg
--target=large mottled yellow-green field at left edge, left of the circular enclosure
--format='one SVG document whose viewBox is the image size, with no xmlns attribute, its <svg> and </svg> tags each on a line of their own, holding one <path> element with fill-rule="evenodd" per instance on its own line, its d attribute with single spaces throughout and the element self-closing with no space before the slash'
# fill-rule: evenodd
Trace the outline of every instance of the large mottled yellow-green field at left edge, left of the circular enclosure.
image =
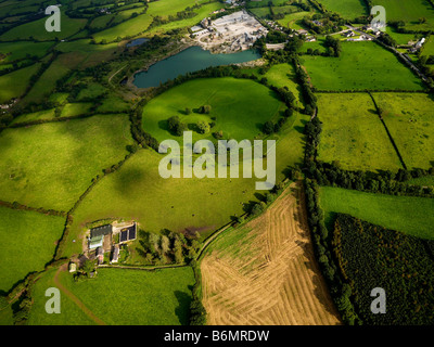
<svg viewBox="0 0 434 347">
<path fill-rule="evenodd" d="M 68 210 L 131 142 L 123 115 L 7 129 L 0 136 L 0 197 Z"/>
</svg>

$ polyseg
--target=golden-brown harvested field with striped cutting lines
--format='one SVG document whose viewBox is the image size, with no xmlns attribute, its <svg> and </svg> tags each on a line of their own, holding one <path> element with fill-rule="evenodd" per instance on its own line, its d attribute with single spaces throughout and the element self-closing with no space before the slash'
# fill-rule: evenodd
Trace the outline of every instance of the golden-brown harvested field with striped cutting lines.
<svg viewBox="0 0 434 347">
<path fill-rule="evenodd" d="M 207 324 L 329 325 L 339 314 L 315 260 L 302 182 L 234 242 L 216 241 L 201 262 Z"/>
</svg>

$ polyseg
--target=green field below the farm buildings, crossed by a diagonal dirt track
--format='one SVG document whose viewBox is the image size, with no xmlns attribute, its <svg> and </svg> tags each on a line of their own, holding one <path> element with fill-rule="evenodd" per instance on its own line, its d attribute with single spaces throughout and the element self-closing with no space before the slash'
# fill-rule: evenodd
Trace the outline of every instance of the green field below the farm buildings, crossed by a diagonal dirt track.
<svg viewBox="0 0 434 347">
<path fill-rule="evenodd" d="M 75 303 L 61 292 L 61 313 L 47 314 L 44 292 L 53 286 L 54 271 L 47 272 L 35 286 L 30 325 L 94 324 Z M 190 267 L 140 271 L 99 269 L 95 279 L 74 282 L 61 272 L 61 283 L 93 314 L 108 325 L 180 325 L 189 323 L 191 288 Z"/>
</svg>

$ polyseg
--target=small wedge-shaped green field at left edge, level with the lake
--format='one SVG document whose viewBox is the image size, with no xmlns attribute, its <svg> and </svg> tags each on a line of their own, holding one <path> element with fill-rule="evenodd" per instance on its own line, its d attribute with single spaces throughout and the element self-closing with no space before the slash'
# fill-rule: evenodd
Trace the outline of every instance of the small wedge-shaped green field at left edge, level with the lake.
<svg viewBox="0 0 434 347">
<path fill-rule="evenodd" d="M 34 64 L 0 76 L 0 103 L 22 97 L 27 89 L 30 77 L 37 73 L 40 64 Z"/>
</svg>

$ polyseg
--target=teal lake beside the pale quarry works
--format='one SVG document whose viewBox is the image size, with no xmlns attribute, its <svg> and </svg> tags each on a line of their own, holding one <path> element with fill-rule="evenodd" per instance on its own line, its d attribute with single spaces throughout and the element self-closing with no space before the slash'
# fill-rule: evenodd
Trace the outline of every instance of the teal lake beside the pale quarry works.
<svg viewBox="0 0 434 347">
<path fill-rule="evenodd" d="M 135 76 L 135 86 L 139 88 L 157 87 L 179 75 L 193 73 L 209 66 L 230 65 L 257 60 L 260 54 L 256 51 L 242 51 L 232 54 L 210 54 L 200 47 L 190 47 L 187 50 L 169 56 L 152 65 L 148 72 Z"/>
</svg>

